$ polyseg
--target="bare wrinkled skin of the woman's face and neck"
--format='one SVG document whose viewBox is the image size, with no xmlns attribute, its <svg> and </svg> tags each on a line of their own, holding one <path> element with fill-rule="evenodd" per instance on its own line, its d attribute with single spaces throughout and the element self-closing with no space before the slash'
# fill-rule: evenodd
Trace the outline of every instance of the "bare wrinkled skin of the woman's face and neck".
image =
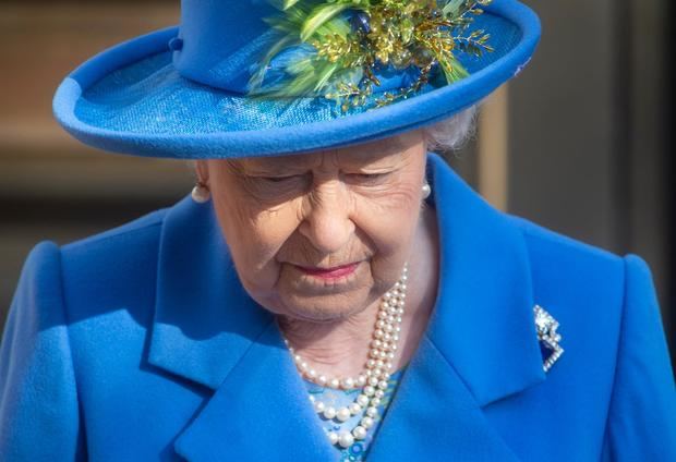
<svg viewBox="0 0 676 462">
<path fill-rule="evenodd" d="M 363 367 L 379 297 L 406 262 L 408 350 L 396 364 L 424 330 L 437 279 L 434 211 L 421 206 L 425 154 L 424 137 L 412 131 L 339 149 L 196 165 L 245 290 L 280 315 L 300 354 L 331 374 Z M 355 267 L 340 277 L 312 272 L 348 264 Z"/>
</svg>

